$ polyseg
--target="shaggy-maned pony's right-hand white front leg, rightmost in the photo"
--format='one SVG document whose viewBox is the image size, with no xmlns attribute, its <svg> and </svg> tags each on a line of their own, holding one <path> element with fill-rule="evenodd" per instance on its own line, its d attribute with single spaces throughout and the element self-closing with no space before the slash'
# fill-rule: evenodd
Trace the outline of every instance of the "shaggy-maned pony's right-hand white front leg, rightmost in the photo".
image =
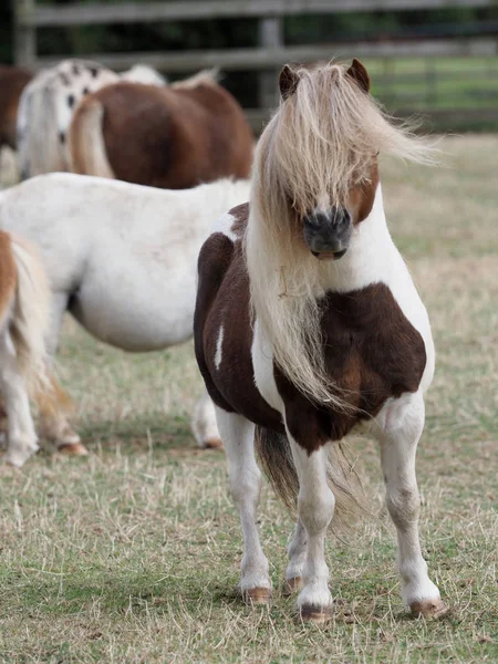
<svg viewBox="0 0 498 664">
<path fill-rule="evenodd" d="M 402 596 L 414 615 L 440 618 L 447 608 L 427 574 L 418 536 L 421 498 L 415 455 L 425 421 L 421 393 L 391 402 L 378 417 L 386 504 L 396 526 Z"/>
</svg>

